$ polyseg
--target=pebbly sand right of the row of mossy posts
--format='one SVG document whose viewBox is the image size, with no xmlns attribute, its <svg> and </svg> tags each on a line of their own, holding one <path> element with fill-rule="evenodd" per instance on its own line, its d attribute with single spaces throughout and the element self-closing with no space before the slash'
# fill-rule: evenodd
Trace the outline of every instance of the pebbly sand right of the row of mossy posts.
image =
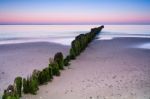
<svg viewBox="0 0 150 99">
<path fill-rule="evenodd" d="M 146 38 L 94 40 L 37 95 L 22 99 L 150 99 L 150 50 Z"/>
</svg>

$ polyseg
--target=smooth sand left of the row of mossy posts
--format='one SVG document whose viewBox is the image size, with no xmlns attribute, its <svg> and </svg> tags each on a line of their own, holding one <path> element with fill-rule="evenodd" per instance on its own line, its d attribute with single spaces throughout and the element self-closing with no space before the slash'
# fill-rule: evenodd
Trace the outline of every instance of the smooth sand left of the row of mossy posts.
<svg viewBox="0 0 150 99">
<path fill-rule="evenodd" d="M 48 66 L 49 58 L 56 52 L 68 54 L 68 46 L 37 42 L 0 45 L 0 94 L 16 76 L 30 76 L 34 69 Z"/>
</svg>

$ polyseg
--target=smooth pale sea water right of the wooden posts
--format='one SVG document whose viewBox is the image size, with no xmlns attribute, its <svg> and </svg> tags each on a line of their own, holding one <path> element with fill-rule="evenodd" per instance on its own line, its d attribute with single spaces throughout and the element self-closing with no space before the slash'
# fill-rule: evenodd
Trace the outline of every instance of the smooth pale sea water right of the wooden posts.
<svg viewBox="0 0 150 99">
<path fill-rule="evenodd" d="M 150 38 L 150 25 L 106 25 L 99 37 L 100 39 L 116 37 Z"/>
</svg>

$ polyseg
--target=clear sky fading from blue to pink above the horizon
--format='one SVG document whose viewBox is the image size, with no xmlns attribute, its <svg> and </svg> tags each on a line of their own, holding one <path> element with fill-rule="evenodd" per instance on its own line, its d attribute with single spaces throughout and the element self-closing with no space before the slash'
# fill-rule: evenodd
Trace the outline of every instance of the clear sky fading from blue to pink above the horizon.
<svg viewBox="0 0 150 99">
<path fill-rule="evenodd" d="M 150 24 L 150 0 L 0 0 L 0 24 Z"/>
</svg>

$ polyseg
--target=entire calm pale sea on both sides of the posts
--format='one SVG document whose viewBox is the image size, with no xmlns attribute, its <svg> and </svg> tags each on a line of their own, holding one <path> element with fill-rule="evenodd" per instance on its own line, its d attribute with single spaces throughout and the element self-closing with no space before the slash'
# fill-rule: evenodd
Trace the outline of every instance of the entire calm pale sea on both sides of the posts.
<svg viewBox="0 0 150 99">
<path fill-rule="evenodd" d="M 99 25 L 0 25 L 0 44 L 55 42 L 70 45 L 75 36 Z M 101 39 L 148 37 L 150 25 L 105 25 Z"/>
</svg>

